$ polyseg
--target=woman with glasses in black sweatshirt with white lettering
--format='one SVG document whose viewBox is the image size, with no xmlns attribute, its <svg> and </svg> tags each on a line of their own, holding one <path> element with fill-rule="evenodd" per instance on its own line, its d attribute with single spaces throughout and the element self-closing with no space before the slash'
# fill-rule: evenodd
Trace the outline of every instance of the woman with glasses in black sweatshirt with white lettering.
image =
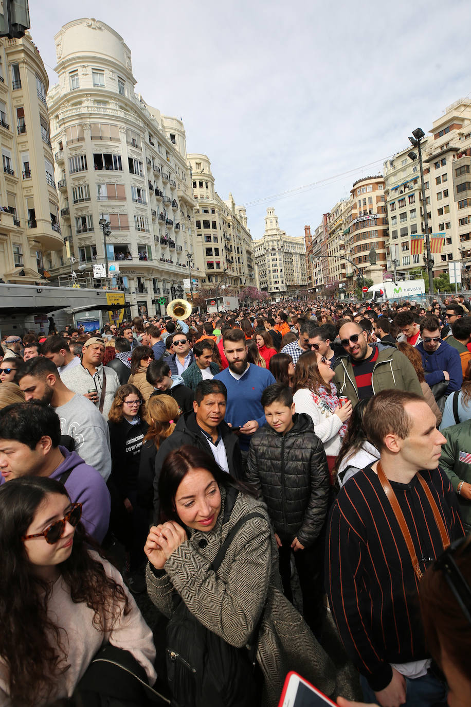
<svg viewBox="0 0 471 707">
<path fill-rule="evenodd" d="M 137 501 L 138 474 L 141 448 L 149 426 L 145 421 L 145 402 L 134 385 L 128 383 L 118 388 L 109 411 L 108 427 L 112 481 L 117 488 L 119 502 L 126 508 L 126 515 L 121 515 L 117 520 L 122 523 L 124 518 L 126 524 L 124 541 L 129 563 L 126 579 L 131 589 L 138 592 L 139 588 L 141 591 L 144 589 L 143 575 L 138 576 L 138 569 L 145 560 L 143 546 L 146 533 L 145 511 Z M 110 525 L 114 526 L 113 515 Z M 123 528 L 120 530 L 119 537 L 123 537 Z"/>
</svg>

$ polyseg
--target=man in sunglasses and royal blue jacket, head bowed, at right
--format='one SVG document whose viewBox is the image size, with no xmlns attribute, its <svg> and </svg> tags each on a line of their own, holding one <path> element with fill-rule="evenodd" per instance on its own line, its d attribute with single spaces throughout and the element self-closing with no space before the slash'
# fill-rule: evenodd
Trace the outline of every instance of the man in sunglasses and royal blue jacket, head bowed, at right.
<svg viewBox="0 0 471 707">
<path fill-rule="evenodd" d="M 420 322 L 422 341 L 415 347 L 422 356 L 425 380 L 430 387 L 443 380 L 448 386 L 442 395 L 460 390 L 463 383 L 460 354 L 453 346 L 441 340 L 440 322 L 436 317 L 425 317 Z"/>
</svg>

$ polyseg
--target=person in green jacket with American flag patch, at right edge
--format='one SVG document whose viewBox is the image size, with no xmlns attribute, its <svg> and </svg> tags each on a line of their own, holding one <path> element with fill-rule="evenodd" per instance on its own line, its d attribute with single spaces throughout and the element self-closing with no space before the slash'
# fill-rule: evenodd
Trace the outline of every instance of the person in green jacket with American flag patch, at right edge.
<svg viewBox="0 0 471 707">
<path fill-rule="evenodd" d="M 471 420 L 441 430 L 446 445 L 441 448 L 440 468 L 451 481 L 458 496 L 461 518 L 471 533 Z"/>
</svg>

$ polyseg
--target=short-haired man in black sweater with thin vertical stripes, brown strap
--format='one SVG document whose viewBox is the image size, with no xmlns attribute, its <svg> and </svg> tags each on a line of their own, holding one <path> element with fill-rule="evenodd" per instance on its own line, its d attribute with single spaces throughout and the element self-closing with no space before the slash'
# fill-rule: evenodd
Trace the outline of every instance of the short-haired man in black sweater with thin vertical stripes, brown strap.
<svg viewBox="0 0 471 707">
<path fill-rule="evenodd" d="M 366 703 L 445 705 L 446 686 L 430 670 L 417 589 L 420 573 L 443 552 L 442 534 L 445 542 L 464 534 L 456 494 L 438 468 L 446 440 L 424 399 L 401 390 L 371 399 L 364 428 L 381 459 L 347 481 L 333 505 L 326 547 L 330 608 Z M 393 510 L 391 493 L 400 510 Z"/>
</svg>

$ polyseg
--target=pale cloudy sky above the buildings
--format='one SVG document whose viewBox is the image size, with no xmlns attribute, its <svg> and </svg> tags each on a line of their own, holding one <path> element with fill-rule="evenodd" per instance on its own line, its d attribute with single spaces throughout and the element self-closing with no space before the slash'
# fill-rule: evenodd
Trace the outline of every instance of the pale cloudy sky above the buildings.
<svg viewBox="0 0 471 707">
<path fill-rule="evenodd" d="M 304 235 L 381 172 L 412 129 L 471 95 L 469 0 L 30 0 L 31 33 L 56 82 L 54 34 L 78 17 L 117 30 L 136 92 L 182 117 L 222 199 L 247 207 L 253 238 L 266 209 Z M 99 12 L 97 8 L 100 8 Z M 286 193 L 290 192 L 290 193 Z"/>
</svg>

